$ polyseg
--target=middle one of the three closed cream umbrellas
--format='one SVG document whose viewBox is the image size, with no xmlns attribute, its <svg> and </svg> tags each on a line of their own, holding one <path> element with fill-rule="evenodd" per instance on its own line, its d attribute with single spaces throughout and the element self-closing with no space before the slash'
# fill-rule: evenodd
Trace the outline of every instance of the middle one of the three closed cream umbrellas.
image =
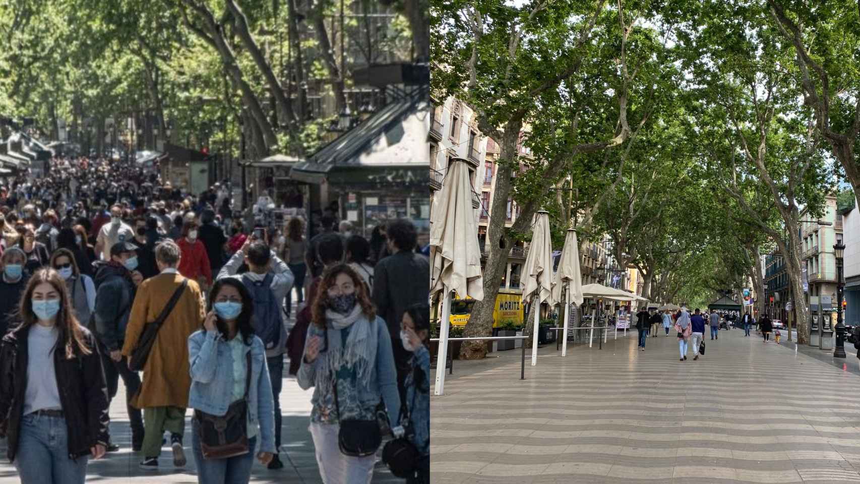
<svg viewBox="0 0 860 484">
<path fill-rule="evenodd" d="M 537 365 L 537 325 L 540 322 L 540 303 L 554 302 L 552 297 L 552 245 L 550 241 L 550 212 L 535 214 L 534 232 L 525 256 L 522 277 L 525 277 L 523 301 L 534 304 L 535 326 L 531 342 L 531 366 Z"/>
</svg>

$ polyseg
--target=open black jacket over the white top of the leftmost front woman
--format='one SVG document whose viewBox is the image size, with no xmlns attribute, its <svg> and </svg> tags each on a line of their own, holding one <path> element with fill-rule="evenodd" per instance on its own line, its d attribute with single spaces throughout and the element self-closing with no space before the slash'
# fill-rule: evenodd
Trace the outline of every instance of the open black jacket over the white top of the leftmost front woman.
<svg viewBox="0 0 860 484">
<path fill-rule="evenodd" d="M 0 341 L 0 436 L 7 438 L 6 456 L 15 460 L 24 393 L 27 390 L 29 328 L 17 328 Z M 107 384 L 101 369 L 101 358 L 95 338 L 82 328 L 83 340 L 92 349 L 89 355 L 75 350 L 74 358 L 65 358 L 64 346 L 53 352 L 54 370 L 60 405 L 68 432 L 69 458 L 89 454 L 95 444 L 107 445 Z"/>
</svg>

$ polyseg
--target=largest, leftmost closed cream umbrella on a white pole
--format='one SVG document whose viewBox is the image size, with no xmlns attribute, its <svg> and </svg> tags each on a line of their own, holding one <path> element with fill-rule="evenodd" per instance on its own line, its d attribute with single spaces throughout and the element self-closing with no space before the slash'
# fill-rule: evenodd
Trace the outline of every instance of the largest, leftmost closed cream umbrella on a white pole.
<svg viewBox="0 0 860 484">
<path fill-rule="evenodd" d="M 453 158 L 442 182 L 442 189 L 433 199 L 430 215 L 430 260 L 433 264 L 430 295 L 439 291 L 442 297 L 442 319 L 439 322 L 439 358 L 436 365 L 435 395 L 445 389 L 445 361 L 448 358 L 448 320 L 451 316 L 451 291 L 460 297 L 483 299 L 481 248 L 478 228 L 472 208 L 469 168 L 462 160 Z"/>
</svg>

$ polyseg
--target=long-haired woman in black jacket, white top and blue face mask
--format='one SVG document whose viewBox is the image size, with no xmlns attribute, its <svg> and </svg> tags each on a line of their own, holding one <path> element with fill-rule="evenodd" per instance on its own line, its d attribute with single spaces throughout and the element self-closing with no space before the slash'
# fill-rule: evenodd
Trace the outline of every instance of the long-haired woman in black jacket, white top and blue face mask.
<svg viewBox="0 0 860 484">
<path fill-rule="evenodd" d="M 95 338 L 51 268 L 28 282 L 20 321 L 0 341 L 0 436 L 23 484 L 83 484 L 105 453 L 107 384 Z"/>
</svg>

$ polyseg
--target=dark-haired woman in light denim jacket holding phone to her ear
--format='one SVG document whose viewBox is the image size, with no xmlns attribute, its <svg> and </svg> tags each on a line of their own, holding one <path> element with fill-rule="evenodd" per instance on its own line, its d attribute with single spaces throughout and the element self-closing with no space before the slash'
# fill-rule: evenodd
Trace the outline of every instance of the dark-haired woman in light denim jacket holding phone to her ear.
<svg viewBox="0 0 860 484">
<path fill-rule="evenodd" d="M 254 303 L 239 279 L 218 279 L 209 293 L 209 312 L 204 329 L 188 337 L 191 360 L 191 391 L 188 407 L 206 414 L 224 415 L 230 403 L 245 393 L 246 357 L 251 352 L 251 383 L 248 392 L 247 454 L 225 459 L 206 459 L 200 449 L 200 427 L 192 420 L 192 449 L 201 484 L 247 483 L 260 441 L 257 459 L 267 465 L 275 453 L 272 383 L 263 342 L 254 335 L 251 316 Z M 259 427 L 259 429 L 258 429 Z"/>
</svg>

